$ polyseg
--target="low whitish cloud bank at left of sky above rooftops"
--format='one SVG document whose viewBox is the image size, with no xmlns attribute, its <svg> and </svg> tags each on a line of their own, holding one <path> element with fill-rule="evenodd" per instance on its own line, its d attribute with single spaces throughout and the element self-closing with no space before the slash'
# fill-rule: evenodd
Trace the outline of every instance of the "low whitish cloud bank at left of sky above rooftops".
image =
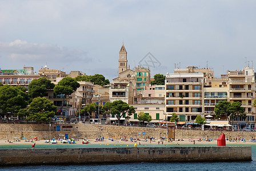
<svg viewBox="0 0 256 171">
<path fill-rule="evenodd" d="M 29 43 L 23 40 L 14 40 L 13 42 L 0 42 L 1 52 L 5 54 L 6 60 L 13 62 L 69 62 L 87 61 L 87 53 L 82 50 L 59 47 L 53 44 Z"/>
</svg>

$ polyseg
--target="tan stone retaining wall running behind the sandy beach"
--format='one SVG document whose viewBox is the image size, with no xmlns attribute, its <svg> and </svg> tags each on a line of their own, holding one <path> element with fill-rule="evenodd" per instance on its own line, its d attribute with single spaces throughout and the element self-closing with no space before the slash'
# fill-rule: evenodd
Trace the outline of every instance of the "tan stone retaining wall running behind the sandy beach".
<svg viewBox="0 0 256 171">
<path fill-rule="evenodd" d="M 98 129 L 98 126 L 103 127 L 103 131 Z M 57 125 L 51 127 L 51 138 L 63 137 L 69 134 L 71 137 L 82 139 L 95 139 L 96 137 L 104 136 L 105 138 L 121 139 L 123 137 L 134 137 L 138 139 L 145 139 L 146 137 L 167 137 L 167 131 L 163 128 L 145 128 L 145 127 L 123 127 L 115 125 L 85 125 L 74 124 L 65 125 L 60 124 L 60 130 L 56 131 Z M 69 128 L 67 128 L 69 127 Z M 251 139 L 256 137 L 256 132 L 222 132 L 222 131 L 197 131 L 176 129 L 175 139 L 218 139 L 218 137 L 225 133 L 226 138 L 235 139 L 237 137 Z M 143 135 L 145 134 L 145 135 Z M 14 137 L 26 137 L 32 139 L 49 139 L 50 129 L 48 124 L 0 124 L 0 140 L 13 140 Z"/>
</svg>

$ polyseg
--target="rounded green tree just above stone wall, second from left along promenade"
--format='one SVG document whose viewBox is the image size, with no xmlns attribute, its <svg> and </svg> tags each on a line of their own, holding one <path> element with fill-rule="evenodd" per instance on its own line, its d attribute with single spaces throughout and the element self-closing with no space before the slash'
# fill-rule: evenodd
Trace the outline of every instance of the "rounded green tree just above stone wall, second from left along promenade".
<svg viewBox="0 0 256 171">
<path fill-rule="evenodd" d="M 46 121 L 51 121 L 51 118 L 57 113 L 57 107 L 53 105 L 53 102 L 47 100 L 45 97 L 35 97 L 30 103 L 28 111 L 29 116 L 27 117 L 27 120 L 43 123 Z M 20 112 L 22 115 L 22 111 Z"/>
</svg>

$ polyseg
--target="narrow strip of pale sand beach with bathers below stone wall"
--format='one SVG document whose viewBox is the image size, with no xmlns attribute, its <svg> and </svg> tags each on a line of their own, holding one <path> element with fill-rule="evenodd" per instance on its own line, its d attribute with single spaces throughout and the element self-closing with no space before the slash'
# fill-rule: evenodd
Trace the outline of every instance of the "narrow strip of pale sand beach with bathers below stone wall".
<svg viewBox="0 0 256 171">
<path fill-rule="evenodd" d="M 158 145 L 158 141 L 159 141 L 159 144 L 162 144 L 162 141 L 160 140 L 155 140 L 155 141 L 152 141 L 151 143 L 149 141 L 121 141 L 120 139 L 115 139 L 113 141 L 110 141 L 110 140 L 104 140 L 104 141 L 98 141 L 98 142 L 95 142 L 95 140 L 93 139 L 89 139 L 89 144 L 102 144 L 102 145 L 105 145 L 105 144 L 126 144 L 126 145 L 131 145 L 133 146 L 135 143 L 137 143 L 137 145 L 139 145 L 139 143 L 141 145 L 147 145 L 147 144 L 151 144 L 151 145 Z M 45 143 L 45 140 L 39 140 L 39 141 L 25 141 L 25 140 L 20 140 L 20 141 L 16 141 L 16 140 L 13 140 L 11 141 L 11 143 L 7 142 L 6 140 L 0 140 L 0 145 L 33 145 L 33 144 L 46 144 Z M 57 144 L 62 144 L 61 141 L 57 140 Z M 76 140 L 75 141 L 75 144 L 82 144 L 82 139 L 81 140 Z M 194 145 L 194 142 L 193 140 L 184 140 L 184 141 L 173 141 L 173 142 L 168 142 L 168 141 L 163 141 L 163 144 L 169 144 L 169 145 Z M 213 141 L 198 141 L 198 140 L 195 140 L 195 145 L 217 145 L 217 140 L 213 140 Z M 251 141 L 234 141 L 234 142 L 230 142 L 230 141 L 226 141 L 226 145 L 255 145 L 256 142 L 251 142 Z"/>
</svg>

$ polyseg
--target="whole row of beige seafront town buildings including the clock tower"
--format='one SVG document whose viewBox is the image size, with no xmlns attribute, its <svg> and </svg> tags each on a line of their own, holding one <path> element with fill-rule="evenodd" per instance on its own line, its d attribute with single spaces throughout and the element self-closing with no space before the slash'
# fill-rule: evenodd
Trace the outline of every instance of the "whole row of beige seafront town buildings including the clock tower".
<svg viewBox="0 0 256 171">
<path fill-rule="evenodd" d="M 85 75 L 81 71 L 71 71 L 70 74 L 53 70 L 47 66 L 41 68 L 38 74 L 33 67 L 23 67 L 23 70 L 0 70 L 0 83 L 11 86 L 28 87 L 33 79 L 45 77 L 54 84 L 62 78 L 75 78 Z M 104 105 L 107 101 L 122 100 L 133 105 L 134 115 L 129 121 L 138 122 L 138 113 L 143 111 L 151 115 L 153 122 L 169 121 L 173 113 L 177 113 L 179 121 L 194 122 L 198 115 L 209 121 L 225 121 L 215 118 L 214 107 L 219 101 L 239 101 L 245 107 L 246 118 L 237 118 L 235 127 L 255 128 L 255 72 L 254 68 L 246 67 L 242 71 L 227 71 L 221 78 L 214 77 L 210 68 L 186 67 L 175 68 L 173 74 L 166 74 L 164 85 L 150 84 L 150 70 L 142 66 L 130 69 L 127 51 L 122 44 L 118 58 L 118 78 L 114 78 L 107 86 L 98 86 L 90 82 L 79 82 L 77 91 L 67 97 L 59 115 L 74 117 L 78 109 L 90 103 Z M 62 105 L 62 96 L 47 91 L 47 99 L 54 102 L 58 109 Z M 116 120 L 113 116 L 96 116 L 103 121 Z M 125 118 L 122 118 L 125 121 Z M 227 121 L 226 121 L 227 122 Z"/>
</svg>

